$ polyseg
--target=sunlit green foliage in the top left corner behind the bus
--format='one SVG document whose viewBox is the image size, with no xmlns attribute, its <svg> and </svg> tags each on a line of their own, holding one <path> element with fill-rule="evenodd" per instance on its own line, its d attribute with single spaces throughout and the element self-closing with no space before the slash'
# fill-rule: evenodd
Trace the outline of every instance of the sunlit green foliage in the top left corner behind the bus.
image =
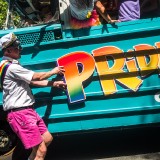
<svg viewBox="0 0 160 160">
<path fill-rule="evenodd" d="M 8 9 L 8 3 L 5 0 L 0 0 L 0 29 L 3 28 L 3 25 L 5 23 L 7 16 L 7 9 Z M 16 26 L 18 26 L 20 23 L 20 17 L 16 12 L 13 13 L 13 21 Z"/>
</svg>

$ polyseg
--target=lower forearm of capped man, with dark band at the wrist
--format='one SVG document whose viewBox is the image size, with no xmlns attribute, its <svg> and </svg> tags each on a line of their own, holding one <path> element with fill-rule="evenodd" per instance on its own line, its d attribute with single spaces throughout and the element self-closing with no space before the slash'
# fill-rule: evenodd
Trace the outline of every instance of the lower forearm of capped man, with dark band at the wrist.
<svg viewBox="0 0 160 160">
<path fill-rule="evenodd" d="M 30 85 L 38 87 L 57 87 L 61 89 L 67 88 L 66 83 L 64 83 L 63 81 L 49 81 L 49 80 L 31 81 Z"/>
</svg>

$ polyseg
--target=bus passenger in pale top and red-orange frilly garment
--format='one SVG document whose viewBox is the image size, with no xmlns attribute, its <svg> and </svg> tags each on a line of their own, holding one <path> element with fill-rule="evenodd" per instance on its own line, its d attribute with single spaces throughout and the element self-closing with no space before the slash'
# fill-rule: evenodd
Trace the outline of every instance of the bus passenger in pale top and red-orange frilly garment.
<svg viewBox="0 0 160 160">
<path fill-rule="evenodd" d="M 100 24 L 99 15 L 94 9 L 95 0 L 69 0 L 73 29 L 87 28 Z"/>
</svg>

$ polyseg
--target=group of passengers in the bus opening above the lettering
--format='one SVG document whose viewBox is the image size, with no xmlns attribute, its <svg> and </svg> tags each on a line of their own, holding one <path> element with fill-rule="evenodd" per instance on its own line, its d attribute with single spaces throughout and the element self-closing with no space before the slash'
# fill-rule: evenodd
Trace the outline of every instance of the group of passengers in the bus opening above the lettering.
<svg viewBox="0 0 160 160">
<path fill-rule="evenodd" d="M 73 29 L 140 19 L 158 9 L 158 0 L 69 0 Z"/>
</svg>

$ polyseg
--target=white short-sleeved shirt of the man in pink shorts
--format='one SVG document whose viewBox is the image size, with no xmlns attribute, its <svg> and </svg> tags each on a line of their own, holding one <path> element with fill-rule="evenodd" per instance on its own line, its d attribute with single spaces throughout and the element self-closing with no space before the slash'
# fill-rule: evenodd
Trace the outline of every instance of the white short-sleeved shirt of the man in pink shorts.
<svg viewBox="0 0 160 160">
<path fill-rule="evenodd" d="M 23 68 L 17 60 L 3 57 L 1 62 L 11 60 L 12 64 L 7 69 L 3 81 L 3 109 L 7 111 L 13 108 L 32 105 L 35 100 L 29 84 L 34 72 Z"/>
</svg>

